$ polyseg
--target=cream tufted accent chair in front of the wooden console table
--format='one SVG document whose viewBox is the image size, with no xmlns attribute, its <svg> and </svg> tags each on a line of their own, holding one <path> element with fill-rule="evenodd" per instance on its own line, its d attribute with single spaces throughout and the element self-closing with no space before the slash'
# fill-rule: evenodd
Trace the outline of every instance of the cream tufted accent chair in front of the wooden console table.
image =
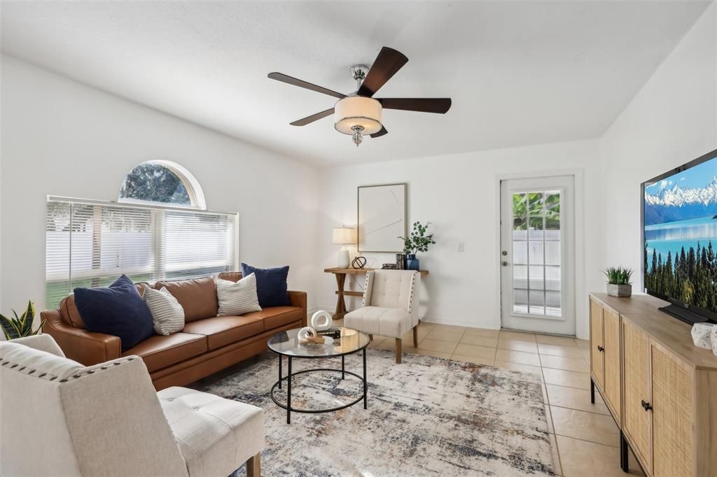
<svg viewBox="0 0 717 477">
<path fill-rule="evenodd" d="M 413 345 L 418 346 L 418 307 L 421 274 L 412 270 L 373 270 L 366 272 L 361 308 L 343 317 L 346 327 L 396 339 L 396 362 L 401 362 L 401 342 L 413 329 Z"/>
</svg>

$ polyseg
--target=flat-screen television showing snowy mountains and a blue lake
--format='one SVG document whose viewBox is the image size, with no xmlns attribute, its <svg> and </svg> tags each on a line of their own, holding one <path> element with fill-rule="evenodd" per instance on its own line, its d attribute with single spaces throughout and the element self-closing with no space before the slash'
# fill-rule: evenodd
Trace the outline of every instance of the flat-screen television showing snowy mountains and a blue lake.
<svg viewBox="0 0 717 477">
<path fill-rule="evenodd" d="M 717 322 L 717 150 L 642 183 L 642 283 L 690 324 Z"/>
</svg>

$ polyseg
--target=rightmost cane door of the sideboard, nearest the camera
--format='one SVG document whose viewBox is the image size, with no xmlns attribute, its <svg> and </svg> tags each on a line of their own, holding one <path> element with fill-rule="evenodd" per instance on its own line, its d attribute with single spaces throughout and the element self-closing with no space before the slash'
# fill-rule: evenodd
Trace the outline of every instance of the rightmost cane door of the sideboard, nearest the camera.
<svg viewBox="0 0 717 477">
<path fill-rule="evenodd" d="M 652 346 L 653 477 L 693 476 L 693 375 Z"/>
</svg>

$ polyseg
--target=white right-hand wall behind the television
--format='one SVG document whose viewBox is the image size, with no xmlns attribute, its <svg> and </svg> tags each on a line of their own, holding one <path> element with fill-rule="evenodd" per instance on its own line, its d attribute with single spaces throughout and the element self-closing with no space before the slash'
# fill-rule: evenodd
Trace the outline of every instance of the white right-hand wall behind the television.
<svg viewBox="0 0 717 477">
<path fill-rule="evenodd" d="M 717 148 L 717 4 L 642 87 L 600 141 L 603 266 L 639 270 L 640 183 Z"/>
</svg>

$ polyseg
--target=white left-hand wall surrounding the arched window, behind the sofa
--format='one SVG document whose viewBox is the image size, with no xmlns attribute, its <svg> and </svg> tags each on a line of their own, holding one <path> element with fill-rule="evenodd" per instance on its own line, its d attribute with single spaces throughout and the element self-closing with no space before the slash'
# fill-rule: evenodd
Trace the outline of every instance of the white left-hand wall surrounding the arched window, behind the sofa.
<svg viewBox="0 0 717 477">
<path fill-rule="evenodd" d="M 315 168 L 6 55 L 1 88 L 0 312 L 44 307 L 47 195 L 116 200 L 124 175 L 151 159 L 189 169 L 209 209 L 239 212 L 239 258 L 289 264 L 290 288 L 313 306 Z"/>
</svg>

